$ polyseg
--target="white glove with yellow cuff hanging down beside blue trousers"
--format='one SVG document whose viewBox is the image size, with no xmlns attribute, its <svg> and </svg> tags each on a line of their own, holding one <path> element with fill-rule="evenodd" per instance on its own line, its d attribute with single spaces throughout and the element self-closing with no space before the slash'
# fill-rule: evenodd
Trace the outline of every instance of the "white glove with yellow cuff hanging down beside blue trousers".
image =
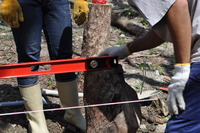
<svg viewBox="0 0 200 133">
<path fill-rule="evenodd" d="M 178 110 L 185 110 L 185 101 L 183 98 L 183 90 L 188 81 L 190 74 L 190 64 L 176 64 L 174 66 L 175 75 L 171 79 L 168 86 L 167 103 L 169 112 L 178 115 Z"/>
</svg>

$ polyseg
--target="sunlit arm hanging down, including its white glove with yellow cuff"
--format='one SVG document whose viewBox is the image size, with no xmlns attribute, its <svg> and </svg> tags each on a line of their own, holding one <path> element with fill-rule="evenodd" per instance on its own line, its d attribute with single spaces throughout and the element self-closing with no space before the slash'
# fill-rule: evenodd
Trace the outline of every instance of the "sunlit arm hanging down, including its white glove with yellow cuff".
<svg viewBox="0 0 200 133">
<path fill-rule="evenodd" d="M 185 110 L 183 92 L 190 75 L 191 22 L 187 0 L 176 0 L 167 13 L 176 63 L 168 86 L 167 103 L 171 113 Z"/>
</svg>

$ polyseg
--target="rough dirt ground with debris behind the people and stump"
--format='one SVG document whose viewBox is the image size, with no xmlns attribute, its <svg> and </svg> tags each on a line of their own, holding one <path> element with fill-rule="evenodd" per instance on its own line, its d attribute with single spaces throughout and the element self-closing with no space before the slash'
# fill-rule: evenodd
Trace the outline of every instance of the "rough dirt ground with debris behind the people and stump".
<svg viewBox="0 0 200 133">
<path fill-rule="evenodd" d="M 114 5 L 113 10 L 120 10 L 121 17 L 128 18 L 134 24 L 143 26 L 147 31 L 148 25 L 144 19 L 133 15 L 133 10 L 124 1 L 122 6 Z M 10 28 L 0 21 L 0 64 L 17 63 L 16 48 Z M 79 58 L 81 54 L 83 27 L 73 23 L 73 49 L 74 57 Z M 139 35 L 140 36 L 140 35 Z M 139 37 L 111 26 L 110 46 L 122 45 Z M 49 60 L 46 41 L 42 39 L 41 60 Z M 158 98 L 156 101 L 141 103 L 143 119 L 137 133 L 162 133 L 166 122 L 170 118 L 166 106 L 167 91 L 160 88 L 169 84 L 173 70 L 173 48 L 170 43 L 164 43 L 159 47 L 130 55 L 120 60 L 124 70 L 125 81 L 138 93 L 147 94 L 146 98 Z M 45 69 L 46 66 L 44 66 Z M 41 88 L 56 90 L 53 75 L 40 76 Z M 82 90 L 79 89 L 80 92 Z M 153 93 L 152 93 L 153 91 Z M 47 104 L 44 109 L 61 107 L 59 98 L 44 95 Z M 21 101 L 17 82 L 15 78 L 0 79 L 0 114 L 24 111 L 23 105 L 6 106 L 2 103 Z M 83 99 L 80 97 L 80 104 Z M 84 114 L 84 108 L 81 109 Z M 45 112 L 47 125 L 50 133 L 81 133 L 73 125 L 63 120 L 63 110 Z M 27 133 L 28 122 L 25 114 L 0 116 L 0 133 Z"/>
</svg>

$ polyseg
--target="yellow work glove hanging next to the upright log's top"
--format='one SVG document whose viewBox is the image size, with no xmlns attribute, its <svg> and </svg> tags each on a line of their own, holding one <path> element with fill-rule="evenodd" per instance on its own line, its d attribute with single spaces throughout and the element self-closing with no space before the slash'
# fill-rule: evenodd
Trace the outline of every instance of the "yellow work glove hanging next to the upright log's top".
<svg viewBox="0 0 200 133">
<path fill-rule="evenodd" d="M 77 25 L 81 25 L 88 18 L 88 2 L 86 0 L 75 0 L 73 18 Z"/>
</svg>

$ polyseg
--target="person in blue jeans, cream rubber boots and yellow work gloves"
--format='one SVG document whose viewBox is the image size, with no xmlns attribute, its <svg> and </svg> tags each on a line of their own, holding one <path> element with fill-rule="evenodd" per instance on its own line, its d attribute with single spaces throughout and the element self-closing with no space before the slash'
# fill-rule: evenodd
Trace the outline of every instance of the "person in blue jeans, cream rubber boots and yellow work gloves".
<svg viewBox="0 0 200 133">
<path fill-rule="evenodd" d="M 88 2 L 75 0 L 73 11 L 77 25 L 83 24 L 89 11 Z M 40 61 L 42 31 L 51 60 L 72 58 L 72 20 L 68 0 L 3 0 L 0 14 L 12 28 L 19 63 Z M 37 71 L 38 68 L 33 66 L 31 69 Z M 76 74 L 55 74 L 55 79 L 62 105 L 78 106 Z M 43 110 L 39 77 L 19 77 L 17 81 L 26 110 Z M 43 112 L 28 113 L 27 119 L 30 132 L 49 132 Z M 64 119 L 80 130 L 86 130 L 80 109 L 66 110 Z"/>
</svg>

